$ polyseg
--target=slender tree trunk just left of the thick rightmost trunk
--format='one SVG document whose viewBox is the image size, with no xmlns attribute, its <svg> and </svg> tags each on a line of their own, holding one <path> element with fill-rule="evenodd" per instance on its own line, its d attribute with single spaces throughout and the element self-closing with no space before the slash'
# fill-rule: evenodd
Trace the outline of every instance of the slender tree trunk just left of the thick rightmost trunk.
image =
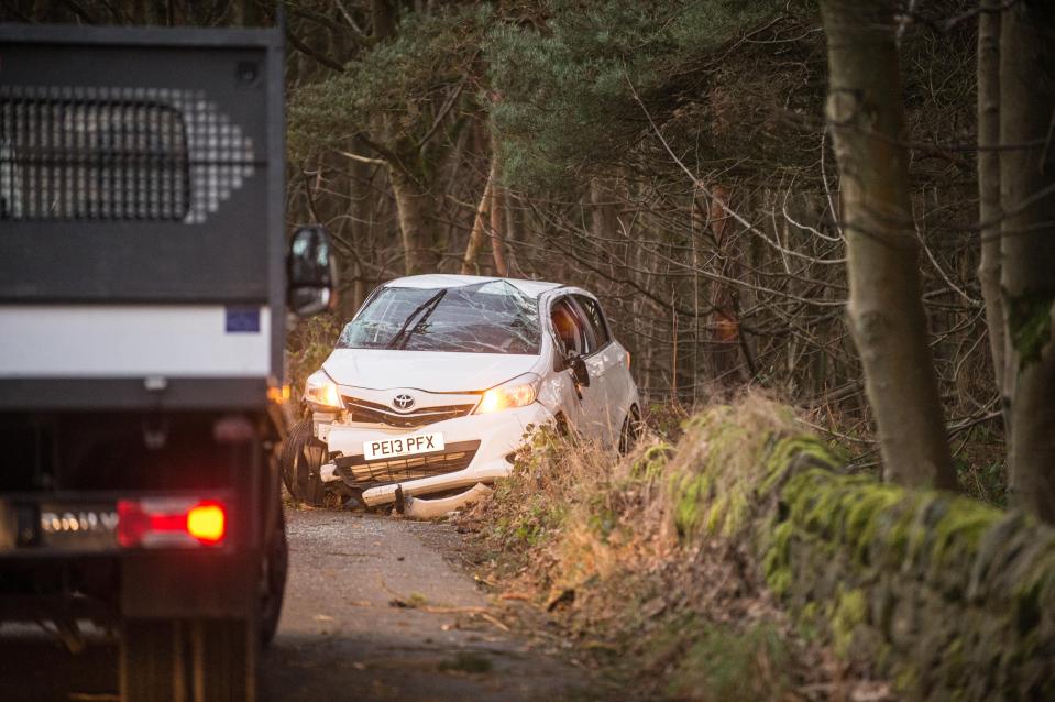
<svg viewBox="0 0 1055 702">
<path fill-rule="evenodd" d="M 1001 0 L 981 0 L 978 18 L 978 219 L 981 262 L 978 279 L 997 390 L 1003 394 L 1003 297 L 1000 294 L 1000 10 Z"/>
</svg>

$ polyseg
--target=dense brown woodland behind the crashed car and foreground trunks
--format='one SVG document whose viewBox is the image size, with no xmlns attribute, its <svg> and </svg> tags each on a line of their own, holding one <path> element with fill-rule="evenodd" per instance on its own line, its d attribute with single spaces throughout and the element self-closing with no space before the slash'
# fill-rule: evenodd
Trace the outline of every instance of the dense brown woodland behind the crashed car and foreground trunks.
<svg viewBox="0 0 1055 702">
<path fill-rule="evenodd" d="M 977 8 L 894 3 L 923 301 L 960 483 L 1004 500 L 977 268 Z M 825 33 L 802 0 L 293 0 L 288 221 L 325 224 L 340 309 L 378 283 L 508 274 L 596 293 L 650 419 L 766 388 L 878 464 L 845 321 Z M 253 0 L 4 0 L 0 20 L 273 24 Z"/>
</svg>

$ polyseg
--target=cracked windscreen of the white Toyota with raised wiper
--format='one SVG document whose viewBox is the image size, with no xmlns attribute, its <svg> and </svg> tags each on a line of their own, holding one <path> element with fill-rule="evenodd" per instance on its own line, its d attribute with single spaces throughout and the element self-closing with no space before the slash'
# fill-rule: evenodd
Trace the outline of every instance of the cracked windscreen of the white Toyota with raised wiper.
<svg viewBox="0 0 1055 702">
<path fill-rule="evenodd" d="M 538 305 L 504 281 L 450 288 L 385 287 L 338 339 L 338 349 L 538 355 Z"/>
</svg>

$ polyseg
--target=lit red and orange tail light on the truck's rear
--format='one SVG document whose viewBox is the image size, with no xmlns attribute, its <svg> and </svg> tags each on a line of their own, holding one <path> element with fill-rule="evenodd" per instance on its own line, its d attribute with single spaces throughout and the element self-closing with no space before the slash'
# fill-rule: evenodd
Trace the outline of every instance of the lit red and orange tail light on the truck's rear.
<svg viewBox="0 0 1055 702">
<path fill-rule="evenodd" d="M 221 546 L 227 505 L 217 500 L 158 497 L 118 501 L 118 544 L 123 548 Z"/>
</svg>

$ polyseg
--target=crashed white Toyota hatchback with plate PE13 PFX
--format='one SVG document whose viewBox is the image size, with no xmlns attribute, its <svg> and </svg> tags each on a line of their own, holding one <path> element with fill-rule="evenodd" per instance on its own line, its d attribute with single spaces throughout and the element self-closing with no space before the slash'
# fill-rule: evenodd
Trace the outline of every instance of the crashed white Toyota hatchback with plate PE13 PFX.
<svg viewBox="0 0 1055 702">
<path fill-rule="evenodd" d="M 507 475 L 531 427 L 625 449 L 640 415 L 629 365 L 586 290 L 399 278 L 371 294 L 308 377 L 305 438 L 327 491 L 435 516 Z"/>
</svg>

